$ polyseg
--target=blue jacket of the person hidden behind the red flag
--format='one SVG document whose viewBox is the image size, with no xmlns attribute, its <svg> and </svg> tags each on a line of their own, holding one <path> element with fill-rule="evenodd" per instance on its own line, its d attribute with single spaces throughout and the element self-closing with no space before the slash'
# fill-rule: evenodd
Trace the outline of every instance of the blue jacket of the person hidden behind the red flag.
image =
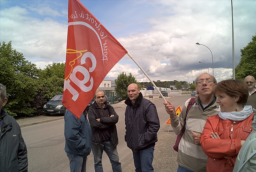
<svg viewBox="0 0 256 172">
<path fill-rule="evenodd" d="M 69 110 L 64 116 L 65 152 L 87 156 L 91 152 L 91 126 L 82 113 L 80 120 Z"/>
</svg>

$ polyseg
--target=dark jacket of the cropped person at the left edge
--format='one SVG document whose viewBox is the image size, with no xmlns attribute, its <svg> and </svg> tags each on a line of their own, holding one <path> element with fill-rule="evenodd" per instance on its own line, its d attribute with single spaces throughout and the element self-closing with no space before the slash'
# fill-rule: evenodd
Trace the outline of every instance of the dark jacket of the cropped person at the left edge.
<svg viewBox="0 0 256 172">
<path fill-rule="evenodd" d="M 1 109 L 0 172 L 27 172 L 27 147 L 19 124 Z"/>
</svg>

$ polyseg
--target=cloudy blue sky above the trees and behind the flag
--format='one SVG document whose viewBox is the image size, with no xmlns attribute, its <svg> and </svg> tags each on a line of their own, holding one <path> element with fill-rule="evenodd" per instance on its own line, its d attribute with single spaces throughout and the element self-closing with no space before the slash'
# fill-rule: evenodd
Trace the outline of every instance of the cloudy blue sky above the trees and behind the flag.
<svg viewBox="0 0 256 172">
<path fill-rule="evenodd" d="M 192 82 L 208 68 L 212 74 L 211 52 L 217 81 L 232 76 L 230 0 L 80 2 L 145 71 L 150 70 L 147 74 L 154 81 Z M 0 42 L 12 41 L 13 48 L 39 68 L 64 62 L 67 9 L 67 0 L 0 0 Z M 255 0 L 233 0 L 235 65 L 240 49 L 256 34 L 255 9 Z M 128 55 L 105 79 L 114 80 L 121 72 L 143 81 L 143 72 Z"/>
</svg>

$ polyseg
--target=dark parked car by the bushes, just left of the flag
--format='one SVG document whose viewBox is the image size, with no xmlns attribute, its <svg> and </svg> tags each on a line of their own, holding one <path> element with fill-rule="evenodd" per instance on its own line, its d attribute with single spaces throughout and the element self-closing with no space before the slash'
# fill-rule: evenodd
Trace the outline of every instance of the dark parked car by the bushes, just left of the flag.
<svg viewBox="0 0 256 172">
<path fill-rule="evenodd" d="M 63 94 L 57 94 L 54 96 L 49 102 L 47 102 L 44 107 L 43 111 L 46 115 L 51 114 L 65 114 L 66 107 L 62 104 Z"/>
</svg>

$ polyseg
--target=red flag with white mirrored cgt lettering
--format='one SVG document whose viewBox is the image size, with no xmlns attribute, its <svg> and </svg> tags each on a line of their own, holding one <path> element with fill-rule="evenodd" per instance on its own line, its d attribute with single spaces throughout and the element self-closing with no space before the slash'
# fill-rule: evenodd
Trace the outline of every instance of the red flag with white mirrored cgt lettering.
<svg viewBox="0 0 256 172">
<path fill-rule="evenodd" d="M 69 0 L 69 26 L 62 104 L 80 119 L 125 48 L 79 2 Z"/>
</svg>

